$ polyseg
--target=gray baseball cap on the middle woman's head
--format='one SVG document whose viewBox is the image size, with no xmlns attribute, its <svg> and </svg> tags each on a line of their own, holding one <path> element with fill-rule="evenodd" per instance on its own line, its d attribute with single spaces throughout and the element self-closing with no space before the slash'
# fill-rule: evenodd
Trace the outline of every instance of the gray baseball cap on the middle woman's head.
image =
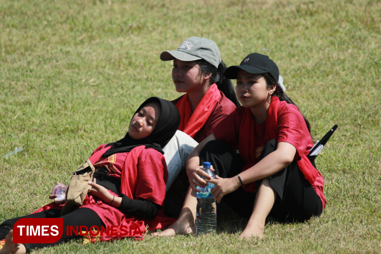
<svg viewBox="0 0 381 254">
<path fill-rule="evenodd" d="M 181 61 L 196 61 L 204 59 L 215 68 L 221 62 L 221 54 L 215 42 L 200 37 L 190 37 L 180 44 L 177 50 L 163 51 L 160 59 L 169 61 L 173 59 Z"/>
</svg>

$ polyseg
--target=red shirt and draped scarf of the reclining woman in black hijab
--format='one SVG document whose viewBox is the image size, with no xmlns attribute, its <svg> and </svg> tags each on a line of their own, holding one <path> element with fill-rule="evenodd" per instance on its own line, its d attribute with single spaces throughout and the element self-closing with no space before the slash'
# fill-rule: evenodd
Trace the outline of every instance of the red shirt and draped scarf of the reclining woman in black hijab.
<svg viewBox="0 0 381 254">
<path fill-rule="evenodd" d="M 102 153 L 101 150 L 103 148 L 105 148 L 105 145 L 100 145 L 94 150 L 90 160 L 91 158 L 93 158 L 93 160 L 98 160 L 99 157 L 97 156 L 97 152 Z M 96 168 L 106 167 L 110 170 L 108 173 L 109 175 L 121 179 L 122 185 L 120 190 L 130 199 L 143 198 L 158 205 L 163 205 L 166 194 L 165 184 L 168 178 L 165 158 L 163 154 L 155 149 L 143 148 L 140 152 L 139 149 L 135 150 L 137 148 L 140 148 L 140 146 L 135 147 L 131 152 L 116 153 L 107 158 L 101 158 L 101 160 L 93 162 L 93 165 Z M 139 153 L 137 151 L 139 151 Z M 111 190 L 109 190 L 109 192 L 116 196 Z M 41 207 L 33 213 L 52 208 L 62 209 L 63 206 L 63 204 L 56 205 L 53 202 Z M 106 227 L 119 226 L 120 229 L 120 226 L 130 227 L 135 225 L 138 226 L 143 233 L 145 232 L 145 226 L 147 225 L 150 230 L 155 230 L 166 228 L 175 221 L 173 218 L 162 215 L 160 211 L 153 220 L 138 221 L 138 218 L 124 214 L 119 209 L 103 203 L 100 199 L 97 199 L 92 195 L 86 196 L 83 205 L 80 206 L 80 208 L 89 208 L 96 212 Z M 111 239 L 112 238 L 104 238 L 101 239 L 101 241 Z"/>
</svg>

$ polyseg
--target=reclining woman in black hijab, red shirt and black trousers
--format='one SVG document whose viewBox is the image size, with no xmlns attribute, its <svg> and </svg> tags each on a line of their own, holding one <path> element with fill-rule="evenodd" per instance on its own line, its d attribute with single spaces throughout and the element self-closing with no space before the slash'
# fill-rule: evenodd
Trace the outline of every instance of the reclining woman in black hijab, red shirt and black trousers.
<svg viewBox="0 0 381 254">
<path fill-rule="evenodd" d="M 67 226 L 120 228 L 132 223 L 138 225 L 138 220 L 143 220 L 140 226 L 143 232 L 144 224 L 148 224 L 150 230 L 169 226 L 157 216 L 164 202 L 168 178 L 161 148 L 173 137 L 179 124 L 180 115 L 172 102 L 156 97 L 146 100 L 132 117 L 129 132 L 123 139 L 100 145 L 93 151 L 89 160 L 98 170 L 94 173 L 97 177 L 88 182 L 91 190 L 83 205 L 61 216 L 64 205 L 51 203 L 33 214 L 4 221 L 0 225 L 0 239 L 5 239 L 5 245 L 0 253 L 25 253 L 68 241 L 71 236 L 66 232 Z M 12 243 L 11 229 L 18 219 L 56 217 L 63 218 L 63 234 L 59 241 L 53 244 Z"/>
</svg>

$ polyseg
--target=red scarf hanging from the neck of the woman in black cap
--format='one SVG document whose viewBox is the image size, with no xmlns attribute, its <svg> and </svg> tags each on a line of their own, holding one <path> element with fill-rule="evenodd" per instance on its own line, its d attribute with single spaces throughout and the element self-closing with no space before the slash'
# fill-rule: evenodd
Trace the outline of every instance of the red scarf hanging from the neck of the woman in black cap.
<svg viewBox="0 0 381 254">
<path fill-rule="evenodd" d="M 271 98 L 271 103 L 269 110 L 267 112 L 266 118 L 266 143 L 272 139 L 278 139 L 278 108 L 279 108 L 279 98 L 273 96 Z M 246 135 L 239 135 L 239 152 L 241 157 L 248 164 L 242 169 L 242 171 L 251 168 L 255 165 L 255 154 L 256 147 L 255 144 L 255 120 L 249 108 L 246 108 L 242 115 L 242 120 L 240 124 L 239 133 L 245 133 Z M 304 178 L 308 180 L 310 184 L 315 182 L 318 171 L 312 166 L 311 162 L 307 158 L 307 151 L 300 154 L 301 160 L 297 161 L 297 165 L 302 171 Z M 255 183 L 245 184 L 246 192 L 256 192 Z"/>
</svg>

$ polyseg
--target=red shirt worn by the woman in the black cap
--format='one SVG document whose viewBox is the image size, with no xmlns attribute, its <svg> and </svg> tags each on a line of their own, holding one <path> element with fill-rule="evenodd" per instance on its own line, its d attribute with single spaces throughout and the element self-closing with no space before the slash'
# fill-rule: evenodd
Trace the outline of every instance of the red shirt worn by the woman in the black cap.
<svg viewBox="0 0 381 254">
<path fill-rule="evenodd" d="M 241 120 L 244 114 L 250 111 L 249 108 L 238 107 L 236 110 L 227 116 L 220 122 L 214 129 L 213 134 L 217 140 L 228 143 L 233 149 L 239 149 L 240 156 L 248 166 L 255 165 L 259 159 L 256 160 L 258 154 L 262 152 L 262 148 L 265 144 L 265 130 L 263 124 L 256 124 L 254 117 L 252 117 L 253 128 L 247 128 L 247 126 L 241 126 Z M 277 125 L 278 125 L 278 137 L 277 142 L 287 142 L 292 144 L 296 148 L 295 160 L 301 159 L 302 154 L 308 154 L 308 151 L 312 148 L 312 138 L 308 132 L 303 115 L 298 108 L 287 102 L 280 102 L 277 111 Z M 266 125 L 265 125 L 266 126 Z M 246 128 L 245 128 L 246 127 Z M 262 147 L 261 147 L 262 146 Z M 323 209 L 325 207 L 325 197 L 323 194 L 324 180 L 320 172 L 318 173 L 315 181 L 311 184 L 315 189 L 316 194 L 321 198 L 323 203 Z"/>
</svg>

